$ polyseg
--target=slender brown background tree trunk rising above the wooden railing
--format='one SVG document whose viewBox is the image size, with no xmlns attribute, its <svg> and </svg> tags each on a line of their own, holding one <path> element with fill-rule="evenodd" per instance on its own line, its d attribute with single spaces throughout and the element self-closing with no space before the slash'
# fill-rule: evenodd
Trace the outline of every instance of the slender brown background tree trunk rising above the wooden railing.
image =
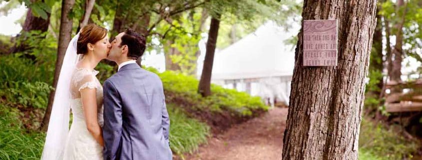
<svg viewBox="0 0 422 160">
<path fill-rule="evenodd" d="M 401 7 L 404 5 L 403 0 L 397 0 L 397 15 L 403 16 L 396 24 L 396 45 L 392 51 L 392 68 L 390 80 L 401 82 L 402 81 L 402 61 L 403 61 L 403 24 L 405 23 L 406 11 L 401 12 Z M 405 9 L 406 10 L 406 9 Z M 392 92 L 401 92 L 401 89 L 393 89 Z"/>
</svg>

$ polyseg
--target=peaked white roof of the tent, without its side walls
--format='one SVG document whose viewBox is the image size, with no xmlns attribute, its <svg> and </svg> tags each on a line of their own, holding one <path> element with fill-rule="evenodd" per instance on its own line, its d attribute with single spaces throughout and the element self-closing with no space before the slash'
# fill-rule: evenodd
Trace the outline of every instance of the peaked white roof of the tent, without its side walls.
<svg viewBox="0 0 422 160">
<path fill-rule="evenodd" d="M 291 29 L 295 30 L 295 29 Z M 295 53 L 285 40 L 297 35 L 273 22 L 216 53 L 212 79 L 243 79 L 293 74 Z"/>
</svg>

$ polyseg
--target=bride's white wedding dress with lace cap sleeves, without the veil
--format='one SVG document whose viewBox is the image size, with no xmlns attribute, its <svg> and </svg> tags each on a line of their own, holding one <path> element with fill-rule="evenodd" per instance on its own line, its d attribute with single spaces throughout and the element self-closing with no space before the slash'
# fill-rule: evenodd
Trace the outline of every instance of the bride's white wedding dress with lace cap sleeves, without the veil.
<svg viewBox="0 0 422 160">
<path fill-rule="evenodd" d="M 103 160 L 103 147 L 97 143 L 86 128 L 80 98 L 81 89 L 96 89 L 98 123 L 102 127 L 104 124 L 102 108 L 103 93 L 102 86 L 95 77 L 96 74 L 98 74 L 98 71 L 91 71 L 86 68 L 76 68 L 72 73 L 70 80 L 70 108 L 73 120 L 66 138 L 63 160 Z"/>
</svg>

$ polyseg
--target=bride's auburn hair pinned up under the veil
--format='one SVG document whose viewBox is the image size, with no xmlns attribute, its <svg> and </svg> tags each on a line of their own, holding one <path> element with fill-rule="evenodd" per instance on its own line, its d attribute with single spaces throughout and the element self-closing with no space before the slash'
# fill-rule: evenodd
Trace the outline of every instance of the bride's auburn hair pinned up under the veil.
<svg viewBox="0 0 422 160">
<path fill-rule="evenodd" d="M 78 42 L 76 45 L 77 54 L 88 53 L 88 43 L 95 44 L 107 35 L 107 29 L 94 23 L 87 24 L 80 29 Z"/>
</svg>

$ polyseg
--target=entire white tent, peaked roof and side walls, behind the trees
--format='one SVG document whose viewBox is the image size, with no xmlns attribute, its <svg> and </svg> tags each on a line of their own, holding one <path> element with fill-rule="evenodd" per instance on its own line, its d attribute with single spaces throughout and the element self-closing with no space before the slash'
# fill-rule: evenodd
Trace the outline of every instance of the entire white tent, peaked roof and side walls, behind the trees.
<svg viewBox="0 0 422 160">
<path fill-rule="evenodd" d="M 299 25 L 286 30 L 272 21 L 217 52 L 212 83 L 288 103 L 294 68 L 294 45 L 286 40 L 297 36 Z M 202 66 L 202 65 L 199 65 Z M 202 69 L 200 69 L 202 71 Z"/>
</svg>

